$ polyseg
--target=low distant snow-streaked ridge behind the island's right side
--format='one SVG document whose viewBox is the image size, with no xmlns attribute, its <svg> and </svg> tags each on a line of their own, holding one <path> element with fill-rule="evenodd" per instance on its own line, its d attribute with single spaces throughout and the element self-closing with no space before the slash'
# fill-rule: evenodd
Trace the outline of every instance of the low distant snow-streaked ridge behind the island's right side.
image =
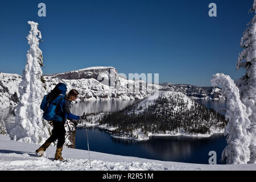
<svg viewBox="0 0 256 182">
<path fill-rule="evenodd" d="M 194 86 L 173 83 L 163 83 L 160 84 L 160 86 L 162 86 L 160 90 L 181 92 L 190 98 L 213 100 L 225 99 L 221 94 L 221 89 L 213 86 Z"/>
</svg>

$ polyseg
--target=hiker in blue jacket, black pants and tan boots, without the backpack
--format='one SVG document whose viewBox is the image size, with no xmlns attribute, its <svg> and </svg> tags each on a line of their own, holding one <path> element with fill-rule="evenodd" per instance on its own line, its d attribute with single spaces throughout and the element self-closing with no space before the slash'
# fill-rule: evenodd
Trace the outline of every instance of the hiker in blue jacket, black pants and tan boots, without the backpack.
<svg viewBox="0 0 256 182">
<path fill-rule="evenodd" d="M 59 84 L 58 84 L 59 85 Z M 57 88 L 57 85 L 56 87 Z M 53 89 L 54 90 L 54 89 Z M 69 105 L 71 101 L 75 101 L 79 97 L 79 92 L 77 90 L 72 89 L 69 91 L 68 96 L 64 97 L 64 100 L 62 103 L 63 107 L 63 113 L 60 114 L 62 121 L 52 121 L 53 122 L 53 130 L 51 137 L 49 137 L 46 142 L 36 150 L 36 154 L 39 156 L 42 156 L 44 154 L 44 151 L 51 145 L 52 142 L 57 141 L 57 148 L 55 153 L 54 160 L 63 160 L 63 157 L 61 156 L 61 151 L 63 150 L 63 144 L 65 143 L 65 122 L 66 118 L 68 119 L 75 119 L 75 120 L 81 120 L 85 119 L 85 114 L 78 116 L 71 113 Z"/>
</svg>

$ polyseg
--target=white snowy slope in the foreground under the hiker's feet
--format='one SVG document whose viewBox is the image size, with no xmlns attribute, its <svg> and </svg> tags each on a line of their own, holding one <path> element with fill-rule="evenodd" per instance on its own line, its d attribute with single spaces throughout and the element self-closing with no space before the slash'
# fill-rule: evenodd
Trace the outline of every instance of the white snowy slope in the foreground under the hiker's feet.
<svg viewBox="0 0 256 182">
<path fill-rule="evenodd" d="M 63 157 L 68 162 L 53 161 L 56 147 L 50 146 L 46 158 L 39 158 L 34 151 L 38 144 L 11 141 L 6 135 L 0 135 L 0 170 L 1 171 L 180 171 L 180 170 L 256 170 L 256 164 L 239 165 L 207 165 L 177 162 L 163 162 L 134 158 L 128 156 L 110 155 L 90 151 L 92 168 L 88 161 L 88 151 L 64 148 Z"/>
</svg>

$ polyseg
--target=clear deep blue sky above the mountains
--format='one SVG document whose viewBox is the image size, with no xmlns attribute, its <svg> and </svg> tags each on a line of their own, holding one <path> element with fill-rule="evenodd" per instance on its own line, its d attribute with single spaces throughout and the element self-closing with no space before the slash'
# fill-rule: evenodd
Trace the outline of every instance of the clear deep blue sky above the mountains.
<svg viewBox="0 0 256 182">
<path fill-rule="evenodd" d="M 46 17 L 38 4 L 46 4 Z M 217 17 L 208 16 L 216 3 Z M 210 86 L 214 73 L 234 80 L 253 0 L 1 1 L 0 71 L 22 74 L 30 30 L 39 23 L 43 73 L 112 66 L 159 73 L 159 82 Z"/>
</svg>

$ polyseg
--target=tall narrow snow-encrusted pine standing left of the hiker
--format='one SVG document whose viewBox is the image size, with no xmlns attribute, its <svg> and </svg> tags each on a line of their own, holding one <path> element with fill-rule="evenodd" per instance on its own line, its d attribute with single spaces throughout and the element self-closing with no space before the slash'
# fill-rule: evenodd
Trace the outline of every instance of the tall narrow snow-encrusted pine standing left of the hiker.
<svg viewBox="0 0 256 182">
<path fill-rule="evenodd" d="M 38 23 L 28 22 L 31 26 L 28 34 L 30 49 L 27 52 L 27 63 L 19 85 L 20 101 L 15 109 L 15 127 L 10 132 L 13 140 L 28 143 L 42 143 L 49 137 L 48 126 L 42 121 L 43 112 L 40 104 L 46 90 L 43 84 L 42 51 L 39 48 L 41 32 Z"/>
</svg>

